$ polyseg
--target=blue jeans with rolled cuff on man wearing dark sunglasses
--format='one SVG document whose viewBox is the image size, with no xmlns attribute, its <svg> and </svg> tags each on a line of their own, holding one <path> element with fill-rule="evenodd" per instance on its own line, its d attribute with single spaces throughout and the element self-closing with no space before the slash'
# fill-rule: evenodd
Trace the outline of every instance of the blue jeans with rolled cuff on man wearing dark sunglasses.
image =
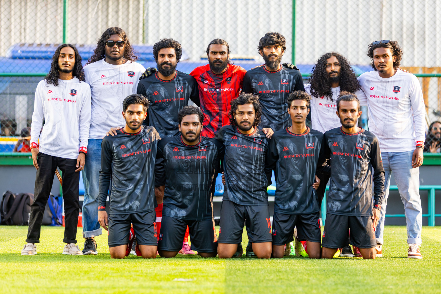
<svg viewBox="0 0 441 294">
<path fill-rule="evenodd" d="M 98 223 L 98 191 L 101 170 L 102 139 L 89 139 L 87 156 L 82 171 L 84 182 L 84 201 L 82 207 L 83 237 L 90 238 L 103 232 Z"/>
</svg>

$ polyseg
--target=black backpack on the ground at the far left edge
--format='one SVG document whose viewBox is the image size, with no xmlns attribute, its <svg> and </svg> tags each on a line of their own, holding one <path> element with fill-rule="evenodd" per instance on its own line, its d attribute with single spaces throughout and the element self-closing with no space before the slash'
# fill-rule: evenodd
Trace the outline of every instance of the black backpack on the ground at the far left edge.
<svg viewBox="0 0 441 294">
<path fill-rule="evenodd" d="M 30 205 L 34 201 L 34 194 L 14 194 L 6 191 L 0 204 L 1 224 L 10 226 L 29 225 Z"/>
</svg>

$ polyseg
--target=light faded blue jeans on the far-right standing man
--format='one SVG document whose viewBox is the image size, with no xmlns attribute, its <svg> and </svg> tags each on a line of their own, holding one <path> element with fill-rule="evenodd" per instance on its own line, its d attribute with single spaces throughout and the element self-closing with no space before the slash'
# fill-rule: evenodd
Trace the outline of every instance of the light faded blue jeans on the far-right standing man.
<svg viewBox="0 0 441 294">
<path fill-rule="evenodd" d="M 396 186 L 404 204 L 407 225 L 407 244 L 421 244 L 422 208 L 419 197 L 419 167 L 412 168 L 412 154 L 409 152 L 381 152 L 385 169 L 385 197 L 381 204 L 381 217 L 375 231 L 377 243 L 383 244 L 387 198 L 390 176 L 393 172 Z"/>
</svg>

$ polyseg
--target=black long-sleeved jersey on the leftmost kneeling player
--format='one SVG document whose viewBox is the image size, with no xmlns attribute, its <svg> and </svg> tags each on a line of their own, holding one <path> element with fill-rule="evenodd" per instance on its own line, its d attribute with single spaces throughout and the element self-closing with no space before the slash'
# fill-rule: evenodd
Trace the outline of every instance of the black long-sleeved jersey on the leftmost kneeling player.
<svg viewBox="0 0 441 294">
<path fill-rule="evenodd" d="M 110 213 L 135 213 L 155 208 L 156 149 L 159 134 L 142 126 L 136 134 L 117 130 L 101 143 L 101 171 L 98 210 L 105 210 L 110 179 Z"/>
</svg>

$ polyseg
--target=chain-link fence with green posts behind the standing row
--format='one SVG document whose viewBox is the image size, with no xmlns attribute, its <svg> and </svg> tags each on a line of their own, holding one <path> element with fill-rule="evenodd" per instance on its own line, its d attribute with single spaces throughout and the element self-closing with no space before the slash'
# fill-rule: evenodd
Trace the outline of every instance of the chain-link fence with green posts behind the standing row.
<svg viewBox="0 0 441 294">
<path fill-rule="evenodd" d="M 361 74 L 371 70 L 367 45 L 398 40 L 402 67 L 419 76 L 429 125 L 441 117 L 440 22 L 437 0 L 0 0 L 0 152 L 27 137 L 34 91 L 56 47 L 75 44 L 85 64 L 110 26 L 127 32 L 144 67 L 156 66 L 155 42 L 176 39 L 184 51 L 178 69 L 187 73 L 207 63 L 217 37 L 235 64 L 262 64 L 258 41 L 278 31 L 287 41 L 282 62 L 296 63 L 305 82 L 325 52 L 347 56 Z"/>
</svg>

